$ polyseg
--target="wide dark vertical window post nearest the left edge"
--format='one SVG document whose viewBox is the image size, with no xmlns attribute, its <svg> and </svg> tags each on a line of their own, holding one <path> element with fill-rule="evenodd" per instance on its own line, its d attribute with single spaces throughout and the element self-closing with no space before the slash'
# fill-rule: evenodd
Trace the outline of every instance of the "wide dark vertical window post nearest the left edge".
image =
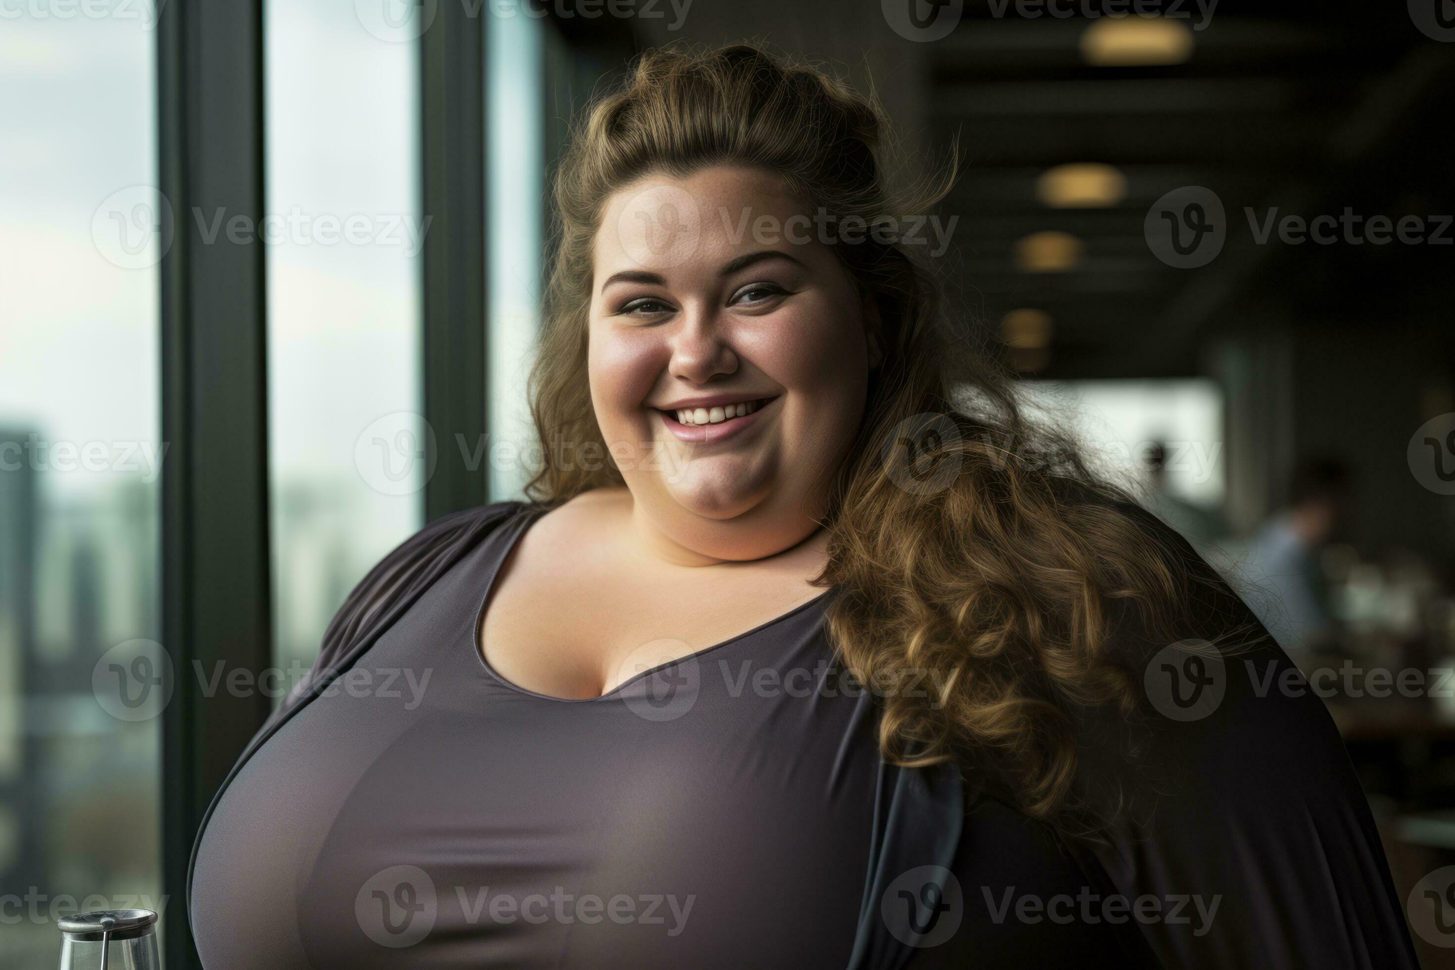
<svg viewBox="0 0 1455 970">
<path fill-rule="evenodd" d="M 262 0 L 179 3 L 160 19 L 160 188 L 173 243 L 162 262 L 163 716 L 166 963 L 199 966 L 186 913 L 198 825 L 269 711 L 262 691 L 204 694 L 198 670 L 272 663 L 268 561 L 265 259 L 227 220 L 263 215 Z M 221 231 L 208 228 L 221 211 Z"/>
</svg>

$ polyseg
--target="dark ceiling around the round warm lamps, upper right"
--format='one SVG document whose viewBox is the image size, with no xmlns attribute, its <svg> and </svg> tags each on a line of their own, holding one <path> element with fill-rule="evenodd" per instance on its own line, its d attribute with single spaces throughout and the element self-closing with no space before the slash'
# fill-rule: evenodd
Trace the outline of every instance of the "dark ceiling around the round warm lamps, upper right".
<svg viewBox="0 0 1455 970">
<path fill-rule="evenodd" d="M 1455 42 L 1420 33 L 1404 3 L 1225 0 L 1193 31 L 1192 55 L 1160 67 L 1087 64 L 1080 44 L 1094 17 L 965 7 L 959 26 L 927 45 L 925 121 L 941 150 L 959 137 L 965 163 L 944 202 L 960 217 L 946 263 L 952 305 L 991 327 L 1010 310 L 1049 313 L 1043 375 L 1190 374 L 1209 333 L 1269 317 L 1445 311 L 1435 288 L 1455 247 L 1257 244 L 1244 214 L 1452 211 L 1443 129 Z M 1202 20 L 1181 7 L 1186 23 Z M 1120 202 L 1055 209 L 1037 199 L 1049 167 L 1088 161 L 1125 175 Z M 1177 269 L 1154 256 L 1144 220 L 1190 185 L 1222 201 L 1227 243 L 1211 263 Z M 1018 270 L 1016 241 L 1045 230 L 1081 240 L 1083 257 L 1064 272 Z"/>
</svg>

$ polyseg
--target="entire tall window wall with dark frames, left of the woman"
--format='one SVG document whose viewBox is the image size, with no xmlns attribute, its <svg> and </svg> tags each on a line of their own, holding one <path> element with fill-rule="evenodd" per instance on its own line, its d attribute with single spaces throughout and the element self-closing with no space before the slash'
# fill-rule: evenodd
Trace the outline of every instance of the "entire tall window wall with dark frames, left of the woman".
<svg viewBox="0 0 1455 970">
<path fill-rule="evenodd" d="M 483 353 L 432 378 L 445 391 L 453 381 L 467 388 L 457 401 L 442 396 L 450 407 L 431 401 L 429 420 L 445 432 L 435 444 L 479 454 L 445 422 L 458 419 L 473 436 L 487 413 L 487 494 L 518 494 L 525 480 L 547 128 L 569 113 L 546 113 L 547 63 L 591 80 L 601 71 L 576 61 L 549 20 L 514 4 L 263 0 L 256 112 L 258 22 L 250 4 L 0 9 L 6 966 L 51 966 L 57 919 L 76 910 L 154 909 L 166 935 L 169 913 L 185 906 L 194 826 L 262 717 L 255 694 L 210 694 L 194 676 L 194 662 L 269 662 L 258 654 L 266 653 L 262 545 L 247 558 L 217 541 L 260 534 L 260 478 L 246 480 L 260 474 L 265 446 L 250 423 L 260 416 L 262 358 L 249 356 L 260 281 L 271 662 L 285 672 L 282 686 L 313 662 L 358 579 L 422 525 L 435 471 L 426 339 L 434 361 L 457 334 L 486 327 L 474 345 Z M 435 33 L 422 38 L 431 22 Z M 464 23 L 483 32 L 470 35 L 483 51 L 441 42 L 463 36 Z M 422 49 L 435 74 L 422 70 Z M 422 86 L 422 76 L 447 83 Z M 460 97 L 461 79 L 483 84 L 471 87 L 483 103 Z M 431 131 L 453 129 L 457 116 L 464 128 L 434 153 L 420 140 L 431 105 L 442 109 Z M 211 125 L 218 118 L 227 128 Z M 226 148 L 223 131 L 236 135 L 221 140 Z M 432 301 L 423 300 L 432 227 L 422 156 L 448 176 L 435 211 L 460 207 L 454 237 L 432 256 L 450 270 L 431 284 Z M 460 204 L 460 183 L 479 189 L 479 177 L 483 205 Z M 236 240 L 233 220 L 253 217 Z M 455 314 L 454 291 L 469 288 L 454 284 L 466 278 L 482 285 L 467 294 L 474 302 L 460 301 L 471 311 Z M 441 326 L 426 326 L 426 302 Z M 231 481 L 242 486 L 220 497 L 217 486 Z M 455 493 L 483 500 L 474 484 L 441 490 L 448 500 L 436 505 L 457 508 Z M 249 582 L 234 589 L 234 577 Z M 164 951 L 175 961 L 188 947 L 182 918 L 170 925 L 179 929 Z"/>
</svg>

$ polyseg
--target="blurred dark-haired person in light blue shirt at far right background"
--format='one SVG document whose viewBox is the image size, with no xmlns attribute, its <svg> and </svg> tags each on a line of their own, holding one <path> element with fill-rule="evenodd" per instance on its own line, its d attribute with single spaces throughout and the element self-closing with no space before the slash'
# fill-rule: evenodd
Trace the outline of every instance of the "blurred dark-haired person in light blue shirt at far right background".
<svg viewBox="0 0 1455 970">
<path fill-rule="evenodd" d="M 1293 474 L 1286 509 L 1248 547 L 1250 605 L 1283 649 L 1333 646 L 1337 625 L 1320 554 L 1349 506 L 1349 467 L 1339 458 L 1305 461 Z"/>
</svg>

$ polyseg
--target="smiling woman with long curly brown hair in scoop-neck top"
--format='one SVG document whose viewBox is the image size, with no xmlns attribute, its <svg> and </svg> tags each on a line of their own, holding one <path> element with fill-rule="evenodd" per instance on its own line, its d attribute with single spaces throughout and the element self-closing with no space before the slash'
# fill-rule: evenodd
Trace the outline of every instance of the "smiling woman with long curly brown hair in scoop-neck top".
<svg viewBox="0 0 1455 970">
<path fill-rule="evenodd" d="M 208 966 L 1414 966 L 1328 716 L 949 333 L 883 128 L 752 47 L 592 106 L 533 502 L 335 618 L 198 836 Z"/>
</svg>

